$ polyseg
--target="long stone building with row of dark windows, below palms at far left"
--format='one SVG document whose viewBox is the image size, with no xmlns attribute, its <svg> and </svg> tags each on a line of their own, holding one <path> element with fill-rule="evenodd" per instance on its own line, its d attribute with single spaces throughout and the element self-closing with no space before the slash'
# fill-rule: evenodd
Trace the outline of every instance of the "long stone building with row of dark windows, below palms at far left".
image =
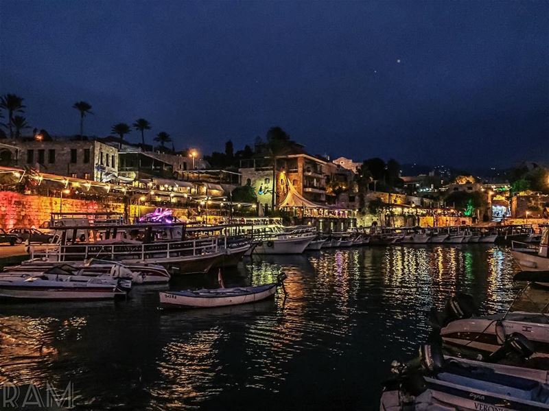
<svg viewBox="0 0 549 411">
<path fill-rule="evenodd" d="M 84 180 L 110 181 L 118 175 L 117 148 L 97 140 L 8 141 L 0 147 L 0 158 L 18 167 Z"/>
</svg>

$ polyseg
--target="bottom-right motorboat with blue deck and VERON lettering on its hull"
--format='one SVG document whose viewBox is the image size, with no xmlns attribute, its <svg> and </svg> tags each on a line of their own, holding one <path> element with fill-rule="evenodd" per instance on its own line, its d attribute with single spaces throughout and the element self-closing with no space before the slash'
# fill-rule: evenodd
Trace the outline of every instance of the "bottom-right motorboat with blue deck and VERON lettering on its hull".
<svg viewBox="0 0 549 411">
<path fill-rule="evenodd" d="M 408 363 L 393 362 L 380 410 L 549 410 L 549 373 L 443 357 L 427 344 Z"/>
</svg>

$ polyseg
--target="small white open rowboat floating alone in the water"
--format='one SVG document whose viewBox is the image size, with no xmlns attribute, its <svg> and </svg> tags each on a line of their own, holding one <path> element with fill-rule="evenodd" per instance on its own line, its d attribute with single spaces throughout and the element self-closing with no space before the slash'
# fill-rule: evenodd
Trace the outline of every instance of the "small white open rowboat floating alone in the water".
<svg viewBox="0 0 549 411">
<path fill-rule="evenodd" d="M 215 290 L 185 290 L 161 292 L 160 304 L 163 307 L 209 308 L 255 303 L 274 296 L 277 287 L 284 288 L 286 274 L 281 273 L 276 283 L 253 287 L 217 288 Z"/>
</svg>

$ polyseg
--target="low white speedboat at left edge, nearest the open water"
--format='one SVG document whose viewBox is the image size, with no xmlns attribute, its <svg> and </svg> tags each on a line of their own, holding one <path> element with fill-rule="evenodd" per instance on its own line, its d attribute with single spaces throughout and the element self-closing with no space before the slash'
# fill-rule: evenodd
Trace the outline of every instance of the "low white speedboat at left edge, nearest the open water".
<svg viewBox="0 0 549 411">
<path fill-rule="evenodd" d="M 0 279 L 0 299 L 8 300 L 103 300 L 126 296 L 122 283 L 99 277 L 78 281 L 47 276 Z M 127 287 L 127 284 L 126 284 Z"/>
</svg>

